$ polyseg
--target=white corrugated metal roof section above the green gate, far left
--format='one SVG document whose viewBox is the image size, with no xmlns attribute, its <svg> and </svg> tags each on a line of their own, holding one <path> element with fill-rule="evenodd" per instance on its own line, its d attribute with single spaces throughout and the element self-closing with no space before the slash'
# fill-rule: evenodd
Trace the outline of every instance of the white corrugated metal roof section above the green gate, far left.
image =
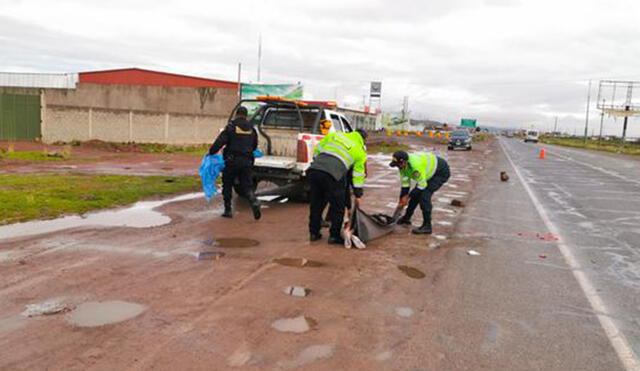
<svg viewBox="0 0 640 371">
<path fill-rule="evenodd" d="M 75 89 L 77 85 L 77 73 L 0 72 L 1 87 Z"/>
</svg>

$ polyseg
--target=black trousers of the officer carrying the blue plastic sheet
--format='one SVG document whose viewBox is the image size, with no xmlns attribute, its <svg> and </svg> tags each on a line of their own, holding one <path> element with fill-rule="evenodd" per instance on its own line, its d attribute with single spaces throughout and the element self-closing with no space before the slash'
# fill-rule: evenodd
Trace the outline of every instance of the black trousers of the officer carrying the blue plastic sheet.
<svg viewBox="0 0 640 371">
<path fill-rule="evenodd" d="M 253 192 L 253 164 L 250 160 L 225 160 L 225 167 L 222 170 L 222 197 L 226 209 L 231 208 L 233 189 L 252 204 L 257 203 Z"/>
</svg>

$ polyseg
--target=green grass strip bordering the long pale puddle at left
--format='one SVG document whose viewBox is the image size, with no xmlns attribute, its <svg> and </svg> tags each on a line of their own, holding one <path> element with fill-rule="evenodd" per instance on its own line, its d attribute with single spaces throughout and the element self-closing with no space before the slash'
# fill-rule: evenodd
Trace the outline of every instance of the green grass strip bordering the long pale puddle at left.
<svg viewBox="0 0 640 371">
<path fill-rule="evenodd" d="M 127 205 L 199 185 L 196 177 L 0 174 L 0 225 Z"/>
</svg>

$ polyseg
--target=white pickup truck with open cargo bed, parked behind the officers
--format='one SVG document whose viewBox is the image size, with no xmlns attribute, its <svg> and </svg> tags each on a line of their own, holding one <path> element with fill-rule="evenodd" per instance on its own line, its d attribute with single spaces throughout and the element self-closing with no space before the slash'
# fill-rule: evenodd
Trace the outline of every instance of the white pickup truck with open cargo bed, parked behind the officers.
<svg viewBox="0 0 640 371">
<path fill-rule="evenodd" d="M 259 148 L 264 153 L 255 160 L 253 170 L 259 196 L 283 195 L 305 200 L 306 171 L 315 146 L 324 137 L 320 124 L 328 121 L 330 125 L 325 123 L 325 127 L 329 126 L 329 133 L 353 131 L 349 120 L 331 105 L 258 97 L 241 100 L 231 117 L 241 105 L 249 109 L 249 120 L 258 131 Z M 270 187 L 260 184 L 267 182 L 272 183 Z"/>
</svg>

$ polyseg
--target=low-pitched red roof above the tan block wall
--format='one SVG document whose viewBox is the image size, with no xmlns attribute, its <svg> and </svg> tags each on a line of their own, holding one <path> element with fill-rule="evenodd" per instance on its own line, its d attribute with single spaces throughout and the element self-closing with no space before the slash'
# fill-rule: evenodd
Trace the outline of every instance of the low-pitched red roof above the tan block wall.
<svg viewBox="0 0 640 371">
<path fill-rule="evenodd" d="M 141 68 L 80 72 L 79 75 L 81 83 L 92 84 L 238 88 L 238 83 L 232 81 L 177 75 L 174 73 L 144 70 Z"/>
</svg>

